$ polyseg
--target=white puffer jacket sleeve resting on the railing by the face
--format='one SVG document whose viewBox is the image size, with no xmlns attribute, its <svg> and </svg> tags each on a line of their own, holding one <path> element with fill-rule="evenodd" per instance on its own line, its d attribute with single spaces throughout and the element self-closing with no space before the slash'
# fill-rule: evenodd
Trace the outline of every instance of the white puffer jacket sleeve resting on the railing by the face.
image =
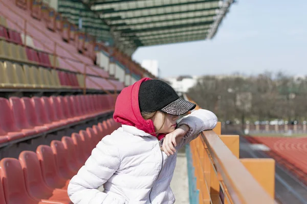
<svg viewBox="0 0 307 204">
<path fill-rule="evenodd" d="M 217 123 L 217 117 L 211 111 L 199 109 L 193 111 L 191 114 L 184 116 L 178 123 L 178 126 L 186 124 L 190 130 L 183 136 L 179 147 L 183 147 L 193 139 L 197 138 L 202 131 L 212 130 Z"/>
</svg>

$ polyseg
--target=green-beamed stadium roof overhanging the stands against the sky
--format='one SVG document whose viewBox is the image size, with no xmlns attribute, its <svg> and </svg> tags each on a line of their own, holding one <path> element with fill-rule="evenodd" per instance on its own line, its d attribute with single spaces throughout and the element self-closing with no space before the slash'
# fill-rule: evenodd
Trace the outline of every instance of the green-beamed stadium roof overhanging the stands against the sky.
<svg viewBox="0 0 307 204">
<path fill-rule="evenodd" d="M 76 5 L 76 0 L 62 2 Z M 109 26 L 117 46 L 135 50 L 139 46 L 211 39 L 233 2 L 83 0 L 82 4 Z M 59 11 L 63 12 L 63 9 Z"/>
</svg>

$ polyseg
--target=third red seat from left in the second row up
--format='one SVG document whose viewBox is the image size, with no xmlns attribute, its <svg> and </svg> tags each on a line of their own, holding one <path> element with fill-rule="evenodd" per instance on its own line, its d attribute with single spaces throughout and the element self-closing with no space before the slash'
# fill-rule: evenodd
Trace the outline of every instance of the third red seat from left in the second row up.
<svg viewBox="0 0 307 204">
<path fill-rule="evenodd" d="M 22 97 L 21 103 L 23 103 L 23 106 L 25 107 L 25 114 L 29 125 L 34 126 L 34 129 L 40 133 L 47 131 L 48 127 L 43 124 L 43 120 L 41 119 L 41 117 L 38 117 L 39 114 L 43 114 L 43 112 L 38 112 L 38 110 L 45 110 L 40 109 L 39 104 L 35 104 L 34 101 L 32 101 L 31 98 L 28 97 Z"/>
</svg>

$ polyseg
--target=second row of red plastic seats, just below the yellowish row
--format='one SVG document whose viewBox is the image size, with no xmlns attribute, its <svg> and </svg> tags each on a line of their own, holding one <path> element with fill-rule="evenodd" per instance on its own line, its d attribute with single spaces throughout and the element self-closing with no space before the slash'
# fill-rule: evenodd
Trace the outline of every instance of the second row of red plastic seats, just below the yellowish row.
<svg viewBox="0 0 307 204">
<path fill-rule="evenodd" d="M 113 95 L 0 98 L 0 143 L 35 136 L 113 111 Z"/>
</svg>

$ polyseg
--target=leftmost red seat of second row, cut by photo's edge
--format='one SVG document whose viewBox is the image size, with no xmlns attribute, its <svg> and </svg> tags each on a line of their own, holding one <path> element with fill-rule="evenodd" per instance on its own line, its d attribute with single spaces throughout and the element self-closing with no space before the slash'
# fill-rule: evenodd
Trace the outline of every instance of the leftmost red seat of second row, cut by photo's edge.
<svg viewBox="0 0 307 204">
<path fill-rule="evenodd" d="M 0 98 L 0 113 L 0 126 L 3 133 L 6 133 L 3 136 L 7 136 L 9 141 L 23 138 L 25 133 L 16 127 L 9 100 L 6 98 Z"/>
</svg>

